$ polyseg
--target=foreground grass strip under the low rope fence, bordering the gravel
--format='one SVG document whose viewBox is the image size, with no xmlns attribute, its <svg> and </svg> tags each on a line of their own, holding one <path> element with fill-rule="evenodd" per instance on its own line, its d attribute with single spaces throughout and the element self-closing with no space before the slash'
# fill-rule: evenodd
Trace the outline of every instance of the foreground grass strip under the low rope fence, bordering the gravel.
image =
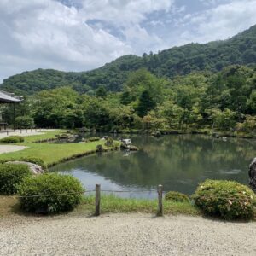
<svg viewBox="0 0 256 256">
<path fill-rule="evenodd" d="M 124 199 L 114 195 L 101 196 L 101 213 L 150 213 L 157 212 L 156 200 L 143 199 Z M 172 202 L 163 201 L 164 214 L 166 215 L 191 215 L 196 216 L 201 213 L 189 202 Z M 84 196 L 82 203 L 76 207 L 73 212 L 62 213 L 61 215 L 73 216 L 90 216 L 95 212 L 95 197 L 93 195 Z M 36 216 L 21 212 L 19 201 L 13 196 L 0 195 L 0 219 L 21 216 Z"/>
</svg>

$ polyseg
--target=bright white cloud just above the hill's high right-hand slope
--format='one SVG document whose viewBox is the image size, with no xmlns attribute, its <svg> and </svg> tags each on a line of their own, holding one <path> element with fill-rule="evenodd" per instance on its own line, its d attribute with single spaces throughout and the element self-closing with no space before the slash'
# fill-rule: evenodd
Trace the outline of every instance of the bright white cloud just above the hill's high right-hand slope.
<svg viewBox="0 0 256 256">
<path fill-rule="evenodd" d="M 186 17 L 189 26 L 181 35 L 181 42 L 206 43 L 230 38 L 256 23 L 256 0 L 233 1 Z"/>
</svg>

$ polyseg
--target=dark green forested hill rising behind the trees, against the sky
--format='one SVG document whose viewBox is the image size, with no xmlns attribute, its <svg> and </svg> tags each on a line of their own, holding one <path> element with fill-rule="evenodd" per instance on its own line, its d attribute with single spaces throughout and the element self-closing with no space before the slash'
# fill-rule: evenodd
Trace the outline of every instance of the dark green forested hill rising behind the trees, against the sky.
<svg viewBox="0 0 256 256">
<path fill-rule="evenodd" d="M 187 44 L 143 57 L 125 55 L 90 72 L 44 69 L 25 72 L 5 79 L 1 87 L 28 94 L 63 85 L 71 85 L 79 92 L 90 92 L 101 85 L 107 90 L 119 91 L 128 75 L 142 67 L 159 77 L 172 78 L 195 71 L 218 72 L 233 64 L 256 64 L 256 26 L 225 41 Z"/>
</svg>

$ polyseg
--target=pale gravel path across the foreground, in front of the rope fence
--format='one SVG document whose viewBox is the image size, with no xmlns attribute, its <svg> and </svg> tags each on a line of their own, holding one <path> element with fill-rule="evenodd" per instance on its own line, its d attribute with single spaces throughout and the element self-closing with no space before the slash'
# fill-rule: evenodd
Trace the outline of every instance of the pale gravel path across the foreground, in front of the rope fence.
<svg viewBox="0 0 256 256">
<path fill-rule="evenodd" d="M 256 255 L 255 222 L 145 214 L 21 219 L 0 220 L 0 255 Z"/>
</svg>

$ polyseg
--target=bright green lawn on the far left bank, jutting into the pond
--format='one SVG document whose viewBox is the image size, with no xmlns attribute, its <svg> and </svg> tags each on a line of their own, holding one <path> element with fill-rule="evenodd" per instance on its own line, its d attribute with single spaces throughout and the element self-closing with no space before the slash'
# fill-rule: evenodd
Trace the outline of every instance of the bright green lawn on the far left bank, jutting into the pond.
<svg viewBox="0 0 256 256">
<path fill-rule="evenodd" d="M 49 139 L 55 137 L 63 131 L 46 131 L 45 134 L 25 137 L 24 143 L 17 143 L 16 145 L 26 146 L 28 148 L 16 152 L 0 154 L 0 160 L 15 159 L 19 160 L 22 157 L 37 157 L 44 160 L 45 164 L 52 166 L 63 160 L 71 159 L 78 155 L 88 154 L 96 150 L 96 145 L 104 142 L 91 143 L 34 143 L 38 140 Z M 104 148 L 106 148 L 104 146 Z M 109 148 L 110 149 L 110 148 Z"/>
</svg>

